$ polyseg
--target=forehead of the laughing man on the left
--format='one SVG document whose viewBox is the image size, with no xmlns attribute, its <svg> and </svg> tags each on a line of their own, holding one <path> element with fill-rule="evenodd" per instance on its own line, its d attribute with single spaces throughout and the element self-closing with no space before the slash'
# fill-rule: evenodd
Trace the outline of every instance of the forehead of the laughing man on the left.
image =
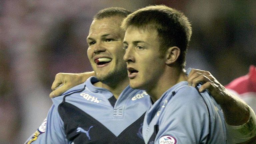
<svg viewBox="0 0 256 144">
<path fill-rule="evenodd" d="M 121 16 L 112 16 L 93 20 L 88 37 L 101 36 L 105 34 L 123 35 L 124 31 L 120 26 L 123 18 Z"/>
</svg>

